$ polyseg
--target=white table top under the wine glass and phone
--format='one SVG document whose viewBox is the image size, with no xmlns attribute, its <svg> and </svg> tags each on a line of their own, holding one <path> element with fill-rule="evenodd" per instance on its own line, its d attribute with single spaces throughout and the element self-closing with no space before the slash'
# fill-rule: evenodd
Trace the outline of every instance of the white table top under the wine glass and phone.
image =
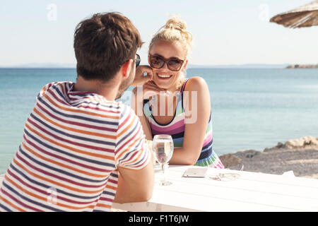
<svg viewBox="0 0 318 226">
<path fill-rule="evenodd" d="M 318 179 L 290 175 L 263 174 L 230 169 L 208 168 L 207 177 L 182 177 L 194 166 L 171 165 L 167 169 L 169 186 L 160 186 L 160 171 L 155 173 L 155 188 L 148 202 L 113 203 L 112 208 L 128 211 L 318 211 Z M 218 173 L 234 173 L 236 179 L 211 179 Z M 3 175 L 0 175 L 0 184 Z"/>
</svg>

